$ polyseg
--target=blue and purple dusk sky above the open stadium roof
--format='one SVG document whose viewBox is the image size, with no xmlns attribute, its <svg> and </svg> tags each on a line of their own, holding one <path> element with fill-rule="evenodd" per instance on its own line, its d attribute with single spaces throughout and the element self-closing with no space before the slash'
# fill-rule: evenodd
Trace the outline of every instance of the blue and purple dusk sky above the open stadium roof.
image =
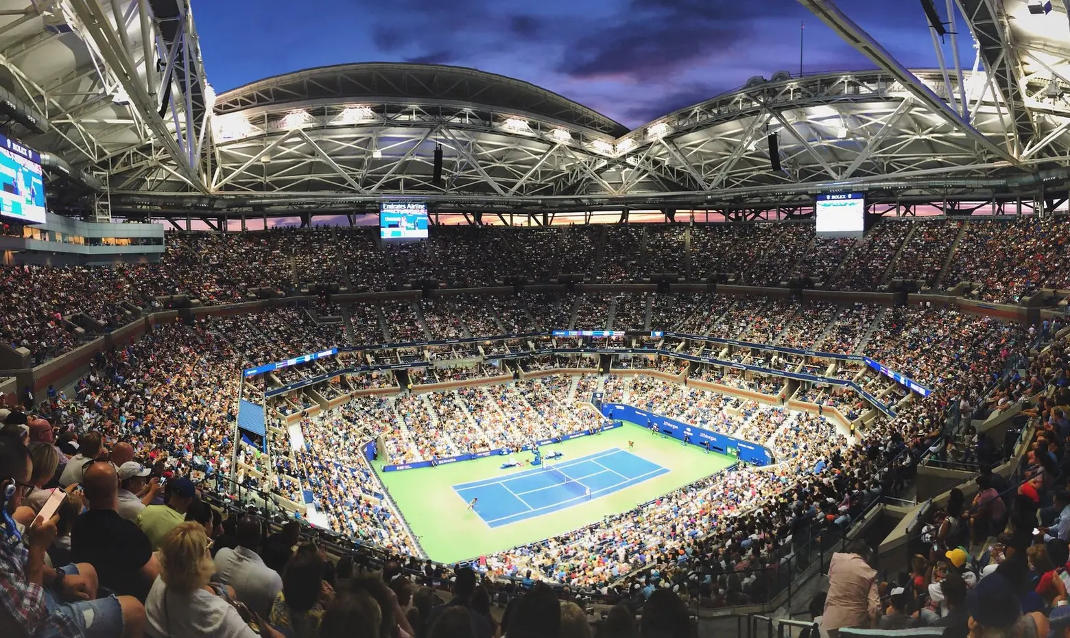
<svg viewBox="0 0 1070 638">
<path fill-rule="evenodd" d="M 936 66 L 919 2 L 838 6 L 902 63 Z M 797 0 L 194 0 L 193 10 L 217 92 L 328 64 L 454 64 L 535 83 L 628 127 L 755 75 L 797 74 L 800 24 L 806 73 L 873 67 Z M 968 36 L 959 48 L 968 65 Z"/>
</svg>

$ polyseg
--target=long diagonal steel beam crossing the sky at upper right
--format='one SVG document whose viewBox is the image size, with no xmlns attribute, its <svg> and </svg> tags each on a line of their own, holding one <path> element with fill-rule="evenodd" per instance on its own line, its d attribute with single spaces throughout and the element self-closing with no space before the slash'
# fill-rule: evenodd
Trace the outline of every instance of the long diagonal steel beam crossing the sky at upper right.
<svg viewBox="0 0 1070 638">
<path fill-rule="evenodd" d="M 896 78 L 902 85 L 903 89 L 910 92 L 919 104 L 927 106 L 934 115 L 938 116 L 957 131 L 963 133 L 968 140 L 977 146 L 978 150 L 987 151 L 994 157 L 1010 162 L 1011 164 L 1019 164 L 1019 160 L 1013 153 L 985 137 L 977 128 L 974 128 L 962 115 L 956 112 L 947 102 L 922 83 L 916 75 L 911 73 L 908 69 L 903 66 L 891 54 L 873 40 L 873 36 L 841 12 L 831 0 L 799 0 L 799 3 L 828 25 L 830 29 L 839 33 L 858 52 L 869 58 L 870 61 Z"/>
</svg>

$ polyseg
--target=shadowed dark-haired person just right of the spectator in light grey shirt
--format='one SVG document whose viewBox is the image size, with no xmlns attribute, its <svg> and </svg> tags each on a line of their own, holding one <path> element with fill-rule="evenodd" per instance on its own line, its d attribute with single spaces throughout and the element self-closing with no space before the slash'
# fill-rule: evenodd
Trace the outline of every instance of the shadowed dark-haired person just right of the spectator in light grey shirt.
<svg viewBox="0 0 1070 638">
<path fill-rule="evenodd" d="M 316 638 L 325 604 L 334 596 L 323 581 L 326 561 L 314 545 L 297 549 L 282 573 L 282 591 L 272 604 L 271 624 L 287 629 L 292 638 Z"/>
</svg>

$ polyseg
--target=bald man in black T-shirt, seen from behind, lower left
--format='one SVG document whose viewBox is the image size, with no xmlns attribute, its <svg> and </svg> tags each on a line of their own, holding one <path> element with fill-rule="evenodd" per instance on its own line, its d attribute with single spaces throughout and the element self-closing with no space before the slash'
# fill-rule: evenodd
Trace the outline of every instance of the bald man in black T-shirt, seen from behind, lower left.
<svg viewBox="0 0 1070 638">
<path fill-rule="evenodd" d="M 81 480 L 89 512 L 71 529 L 71 555 L 96 568 L 101 586 L 144 602 L 159 575 L 152 544 L 137 525 L 119 516 L 119 476 L 109 462 L 86 468 Z"/>
</svg>

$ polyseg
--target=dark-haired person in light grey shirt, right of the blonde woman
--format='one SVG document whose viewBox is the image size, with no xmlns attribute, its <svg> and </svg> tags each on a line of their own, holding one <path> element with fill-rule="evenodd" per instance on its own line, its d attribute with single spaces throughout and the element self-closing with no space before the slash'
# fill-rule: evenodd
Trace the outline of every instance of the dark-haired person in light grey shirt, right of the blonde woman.
<svg viewBox="0 0 1070 638">
<path fill-rule="evenodd" d="M 282 591 L 282 578 L 257 555 L 261 538 L 259 520 L 251 516 L 241 517 L 235 533 L 238 547 L 220 549 L 215 555 L 216 578 L 233 588 L 238 599 L 249 609 L 266 618 Z M 358 607 L 357 602 L 352 605 Z"/>
</svg>

